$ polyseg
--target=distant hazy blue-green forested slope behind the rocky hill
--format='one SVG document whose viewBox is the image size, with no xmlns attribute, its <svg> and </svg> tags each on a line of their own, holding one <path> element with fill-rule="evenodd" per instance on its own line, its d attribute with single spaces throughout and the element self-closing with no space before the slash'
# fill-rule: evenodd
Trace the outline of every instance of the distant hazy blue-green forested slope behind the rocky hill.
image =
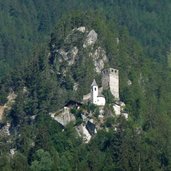
<svg viewBox="0 0 171 171">
<path fill-rule="evenodd" d="M 0 2 L 0 8 L 1 76 L 30 59 L 36 47 L 47 42 L 60 17 L 74 10 L 98 11 L 111 24 L 127 28 L 142 44 L 146 56 L 162 63 L 167 61 L 171 25 L 169 0 L 15 0 L 12 4 L 6 0 Z"/>
</svg>

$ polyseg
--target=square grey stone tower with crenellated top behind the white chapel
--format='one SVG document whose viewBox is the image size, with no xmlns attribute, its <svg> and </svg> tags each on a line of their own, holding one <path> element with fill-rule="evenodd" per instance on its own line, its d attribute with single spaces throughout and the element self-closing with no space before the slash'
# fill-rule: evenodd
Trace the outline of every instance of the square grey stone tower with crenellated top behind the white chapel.
<svg viewBox="0 0 171 171">
<path fill-rule="evenodd" d="M 110 89 L 116 100 L 119 100 L 119 71 L 108 68 L 102 71 L 102 87 L 104 90 Z"/>
</svg>

